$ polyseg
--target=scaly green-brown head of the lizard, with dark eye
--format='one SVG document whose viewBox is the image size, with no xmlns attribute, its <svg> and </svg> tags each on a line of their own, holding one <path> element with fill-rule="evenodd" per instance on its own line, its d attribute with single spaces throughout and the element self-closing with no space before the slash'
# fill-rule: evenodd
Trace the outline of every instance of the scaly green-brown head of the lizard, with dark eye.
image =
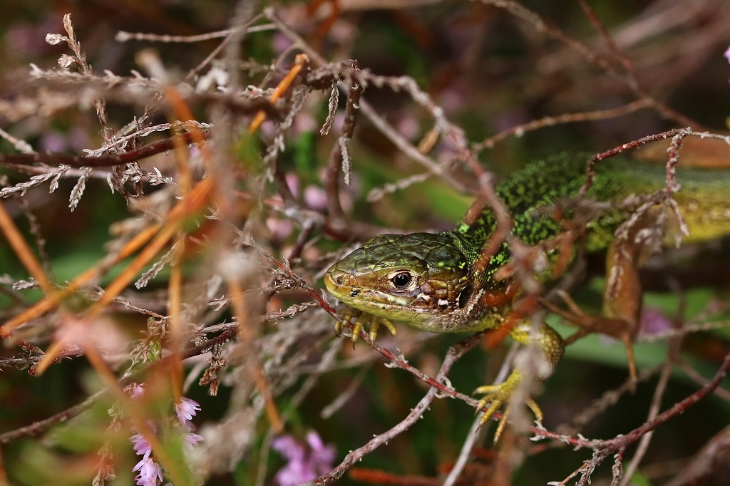
<svg viewBox="0 0 730 486">
<path fill-rule="evenodd" d="M 355 309 L 431 332 L 447 331 L 474 290 L 453 239 L 430 233 L 377 236 L 331 266 L 324 282 Z"/>
</svg>

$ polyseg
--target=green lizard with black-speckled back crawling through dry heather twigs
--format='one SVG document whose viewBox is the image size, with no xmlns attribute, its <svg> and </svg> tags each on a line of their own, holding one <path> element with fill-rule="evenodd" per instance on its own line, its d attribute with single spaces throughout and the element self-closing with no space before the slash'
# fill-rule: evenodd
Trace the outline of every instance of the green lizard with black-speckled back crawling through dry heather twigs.
<svg viewBox="0 0 730 486">
<path fill-rule="evenodd" d="M 565 231 L 566 215 L 553 217 L 550 209 L 554 212 L 556 203 L 577 196 L 586 180 L 587 161 L 588 156 L 558 155 L 531 163 L 499 184 L 496 193 L 514 220 L 512 235 L 535 245 Z M 724 176 L 718 177 L 715 171 L 677 169 L 676 180 L 682 188 L 675 193 L 674 200 L 683 212 L 689 230 L 686 240 L 699 241 L 730 234 L 730 198 L 727 196 L 730 177 Z M 583 229 L 588 252 L 609 250 L 607 268 L 612 277 L 607 280 L 603 315 L 585 315 L 567 298 L 570 312 L 550 306 L 567 320 L 580 325 L 583 330 L 579 333 L 598 331 L 622 339 L 629 350 L 631 363 L 631 340 L 638 331 L 641 311 L 637 267 L 646 256 L 645 245 L 637 241 L 647 236 L 646 231 L 656 228 L 661 204 L 645 210 L 642 217 L 637 217 L 638 213 L 632 209 L 647 201 L 640 196 L 664 188 L 665 180 L 664 165 L 658 163 L 610 159 L 596 164 L 595 180 L 585 193 L 585 200 L 612 204 L 593 204 L 594 213 Z M 644 206 L 647 209 L 652 204 Z M 596 207 L 603 209 L 595 212 Z M 664 209 L 665 215 L 669 213 L 671 223 L 672 212 Z M 632 215 L 634 220 L 628 228 L 623 226 L 627 228 L 626 239 L 615 239 L 614 232 Z M 343 315 L 346 320 L 356 319 L 353 341 L 367 322 L 370 323 L 371 339 L 377 336 L 379 325 L 385 325 L 394 334 L 393 323 L 405 323 L 434 333 L 475 332 L 506 325 L 505 318 L 515 294 L 519 295 L 518 285 L 513 278 L 496 278 L 496 272 L 510 261 L 509 244 L 504 242 L 486 265 L 477 264 L 495 228 L 496 217 L 487 208 L 476 221 L 462 220 L 452 231 L 377 236 L 331 266 L 324 277 L 325 285 L 332 295 L 350 306 Z M 553 265 L 558 260 L 554 253 L 548 258 Z M 512 339 L 521 344 L 535 342 L 547 359 L 550 366 L 539 377 L 544 379 L 563 355 L 563 339 L 544 323 L 537 331 L 532 330 L 529 319 L 512 325 L 511 329 L 505 330 L 510 331 Z M 339 333 L 339 323 L 337 331 Z M 633 366 L 631 374 L 635 376 Z M 485 394 L 479 408 L 491 402 L 482 423 L 502 405 L 509 404 L 521 379 L 522 373 L 515 369 L 501 385 L 477 388 L 475 393 Z M 541 420 L 537 405 L 531 400 L 528 404 Z M 503 414 L 496 437 L 508 412 L 509 407 Z"/>
</svg>

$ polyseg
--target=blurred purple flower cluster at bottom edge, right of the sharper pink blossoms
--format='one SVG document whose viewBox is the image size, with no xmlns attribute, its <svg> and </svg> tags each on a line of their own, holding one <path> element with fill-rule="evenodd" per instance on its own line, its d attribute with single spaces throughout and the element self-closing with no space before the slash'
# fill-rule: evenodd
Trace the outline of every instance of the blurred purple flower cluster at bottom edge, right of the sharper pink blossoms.
<svg viewBox="0 0 730 486">
<path fill-rule="evenodd" d="M 331 471 L 334 461 L 334 447 L 324 445 L 318 433 L 307 433 L 306 443 L 286 435 L 274 439 L 274 450 L 288 460 L 274 479 L 280 486 L 296 486 Z"/>
</svg>

